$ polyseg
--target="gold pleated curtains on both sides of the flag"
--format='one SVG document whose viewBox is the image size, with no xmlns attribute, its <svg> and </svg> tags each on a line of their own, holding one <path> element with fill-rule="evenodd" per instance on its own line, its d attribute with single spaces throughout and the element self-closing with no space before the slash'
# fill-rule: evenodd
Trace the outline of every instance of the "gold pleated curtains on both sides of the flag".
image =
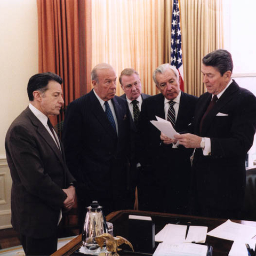
<svg viewBox="0 0 256 256">
<path fill-rule="evenodd" d="M 201 62 L 220 49 L 221 0 L 180 0 L 185 92 L 201 95 Z M 136 69 L 142 92 L 156 94 L 152 73 L 170 62 L 172 0 L 93 0 L 92 67 L 108 62 L 117 76 L 124 68 Z M 117 95 L 123 93 L 117 86 Z"/>
</svg>

